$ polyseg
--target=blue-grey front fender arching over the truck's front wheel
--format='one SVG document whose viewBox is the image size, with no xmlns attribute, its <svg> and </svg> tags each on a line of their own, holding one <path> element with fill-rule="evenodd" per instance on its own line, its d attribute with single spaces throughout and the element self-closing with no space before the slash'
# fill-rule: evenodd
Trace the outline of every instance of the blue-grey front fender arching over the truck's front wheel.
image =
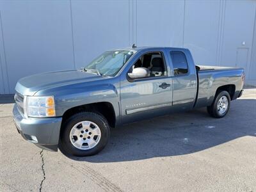
<svg viewBox="0 0 256 192">
<path fill-rule="evenodd" d="M 120 99 L 118 97 L 118 83 L 79 83 L 60 86 L 51 90 L 44 90 L 36 95 L 54 95 L 56 116 L 63 116 L 68 109 L 92 104 L 96 102 L 109 102 L 112 104 L 116 120 L 120 117 Z"/>
</svg>

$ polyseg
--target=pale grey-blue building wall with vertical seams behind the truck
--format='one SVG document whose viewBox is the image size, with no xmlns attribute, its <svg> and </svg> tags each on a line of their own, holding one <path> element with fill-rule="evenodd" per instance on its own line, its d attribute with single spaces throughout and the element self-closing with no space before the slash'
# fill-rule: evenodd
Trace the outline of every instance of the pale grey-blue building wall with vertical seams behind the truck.
<svg viewBox="0 0 256 192">
<path fill-rule="evenodd" d="M 256 80 L 255 13 L 254 0 L 0 1 L 0 94 L 133 43 L 187 47 L 195 63 L 244 67 Z"/>
</svg>

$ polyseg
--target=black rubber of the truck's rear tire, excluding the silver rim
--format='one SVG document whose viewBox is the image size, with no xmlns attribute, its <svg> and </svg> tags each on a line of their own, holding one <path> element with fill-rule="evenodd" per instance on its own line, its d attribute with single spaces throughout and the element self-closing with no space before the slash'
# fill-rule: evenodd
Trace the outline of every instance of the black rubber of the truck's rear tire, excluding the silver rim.
<svg viewBox="0 0 256 192">
<path fill-rule="evenodd" d="M 227 97 L 228 106 L 227 106 L 227 109 L 225 110 L 224 113 L 220 113 L 218 111 L 218 100 L 220 100 L 220 98 L 223 97 L 223 96 Z M 214 118 L 222 118 L 223 116 L 227 115 L 229 108 L 230 108 L 230 95 L 226 91 L 221 91 L 214 98 L 214 100 L 212 102 L 212 105 L 207 106 L 207 112 L 209 113 L 209 115 L 213 116 Z"/>
</svg>

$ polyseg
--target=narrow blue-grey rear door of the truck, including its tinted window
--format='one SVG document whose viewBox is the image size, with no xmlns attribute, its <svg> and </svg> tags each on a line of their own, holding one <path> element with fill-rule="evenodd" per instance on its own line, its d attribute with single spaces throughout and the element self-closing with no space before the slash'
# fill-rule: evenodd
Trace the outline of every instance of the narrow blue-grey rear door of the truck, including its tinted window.
<svg viewBox="0 0 256 192">
<path fill-rule="evenodd" d="M 191 109 L 196 98 L 196 70 L 188 49 L 168 49 L 173 74 L 173 108 Z"/>
</svg>

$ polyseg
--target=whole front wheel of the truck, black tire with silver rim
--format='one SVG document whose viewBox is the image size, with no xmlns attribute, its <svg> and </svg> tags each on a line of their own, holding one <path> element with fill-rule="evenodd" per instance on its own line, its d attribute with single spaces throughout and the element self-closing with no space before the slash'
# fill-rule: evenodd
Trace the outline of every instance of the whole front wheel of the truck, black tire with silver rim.
<svg viewBox="0 0 256 192">
<path fill-rule="evenodd" d="M 98 113 L 81 112 L 70 116 L 61 127 L 60 150 L 73 156 L 93 156 L 108 143 L 108 121 Z"/>
</svg>

